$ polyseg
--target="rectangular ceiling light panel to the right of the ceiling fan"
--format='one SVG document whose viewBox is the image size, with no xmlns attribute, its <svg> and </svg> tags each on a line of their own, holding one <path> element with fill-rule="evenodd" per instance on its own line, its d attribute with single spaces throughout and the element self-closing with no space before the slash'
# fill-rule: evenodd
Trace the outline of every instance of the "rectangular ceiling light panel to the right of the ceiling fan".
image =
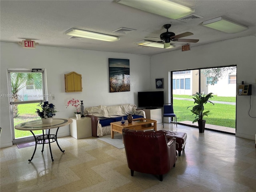
<svg viewBox="0 0 256 192">
<path fill-rule="evenodd" d="M 232 22 L 223 17 L 217 17 L 204 21 L 203 26 L 210 27 L 226 33 L 239 33 L 248 30 L 248 27 Z"/>
</svg>

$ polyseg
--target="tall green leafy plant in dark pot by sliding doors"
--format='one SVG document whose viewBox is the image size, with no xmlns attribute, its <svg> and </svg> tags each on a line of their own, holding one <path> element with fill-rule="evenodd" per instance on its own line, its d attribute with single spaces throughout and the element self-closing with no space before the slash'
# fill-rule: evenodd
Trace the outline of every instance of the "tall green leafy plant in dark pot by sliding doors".
<svg viewBox="0 0 256 192">
<path fill-rule="evenodd" d="M 188 108 L 193 107 L 192 110 L 190 110 L 193 113 L 192 115 L 196 115 L 193 123 L 198 122 L 198 128 L 200 133 L 204 132 L 204 127 L 206 122 L 206 120 L 203 120 L 203 117 L 208 116 L 208 113 L 210 112 L 209 110 L 204 112 L 204 104 L 209 102 L 214 105 L 213 102 L 209 101 L 210 98 L 214 97 L 212 96 L 212 94 L 213 93 L 209 93 L 205 95 L 204 92 L 202 94 L 196 92 L 196 94 L 193 95 L 194 104 L 196 105 L 188 107 Z"/>
</svg>

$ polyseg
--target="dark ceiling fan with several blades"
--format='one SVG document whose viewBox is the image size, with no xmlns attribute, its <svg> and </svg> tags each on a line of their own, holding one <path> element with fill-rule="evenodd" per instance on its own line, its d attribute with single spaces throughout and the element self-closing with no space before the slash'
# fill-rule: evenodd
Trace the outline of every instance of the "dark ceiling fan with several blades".
<svg viewBox="0 0 256 192">
<path fill-rule="evenodd" d="M 166 28 L 167 31 L 160 34 L 160 38 L 156 38 L 156 37 L 145 37 L 145 38 L 161 39 L 162 41 L 158 41 L 158 42 L 164 42 L 164 48 L 170 47 L 170 42 L 171 41 L 188 42 L 188 43 L 196 43 L 196 42 L 199 41 L 199 39 L 180 39 L 182 37 L 193 35 L 193 33 L 185 32 L 185 33 L 182 33 L 182 34 L 175 35 L 175 33 L 168 31 L 168 29 L 171 26 L 172 26 L 171 24 L 165 24 L 164 25 L 164 28 Z"/>
</svg>

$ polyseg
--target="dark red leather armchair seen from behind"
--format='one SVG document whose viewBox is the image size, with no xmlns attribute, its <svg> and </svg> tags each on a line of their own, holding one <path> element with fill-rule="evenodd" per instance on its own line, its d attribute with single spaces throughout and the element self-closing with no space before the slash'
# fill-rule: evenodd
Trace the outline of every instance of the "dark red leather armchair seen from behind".
<svg viewBox="0 0 256 192">
<path fill-rule="evenodd" d="M 167 140 L 164 131 L 122 130 L 126 158 L 131 175 L 134 171 L 159 175 L 175 167 L 177 160 L 176 139 Z"/>
</svg>

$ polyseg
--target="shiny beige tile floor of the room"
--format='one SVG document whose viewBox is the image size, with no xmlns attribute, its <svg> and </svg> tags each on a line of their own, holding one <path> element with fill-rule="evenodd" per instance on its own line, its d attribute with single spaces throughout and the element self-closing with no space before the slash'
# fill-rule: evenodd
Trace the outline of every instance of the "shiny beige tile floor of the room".
<svg viewBox="0 0 256 192">
<path fill-rule="evenodd" d="M 173 124 L 165 129 L 174 130 Z M 162 125 L 158 124 L 158 130 Z M 188 134 L 185 151 L 176 167 L 163 176 L 134 172 L 130 176 L 125 149 L 118 149 L 97 138 L 76 140 L 62 137 L 52 143 L 54 162 L 48 145 L 42 154 L 38 146 L 1 148 L 1 192 L 255 192 L 256 148 L 247 140 L 178 125 Z"/>
</svg>

